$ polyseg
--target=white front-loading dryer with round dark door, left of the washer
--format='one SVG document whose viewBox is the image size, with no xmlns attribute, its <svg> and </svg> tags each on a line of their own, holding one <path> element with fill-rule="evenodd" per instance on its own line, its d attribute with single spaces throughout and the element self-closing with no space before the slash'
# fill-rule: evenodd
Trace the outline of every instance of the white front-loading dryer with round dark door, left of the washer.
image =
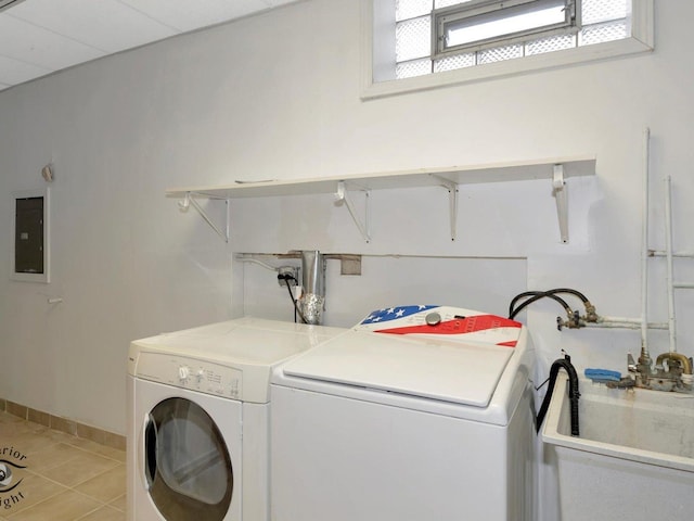
<svg viewBox="0 0 694 521">
<path fill-rule="evenodd" d="M 128 520 L 267 521 L 271 369 L 342 331 L 243 318 L 132 342 Z"/>
</svg>

